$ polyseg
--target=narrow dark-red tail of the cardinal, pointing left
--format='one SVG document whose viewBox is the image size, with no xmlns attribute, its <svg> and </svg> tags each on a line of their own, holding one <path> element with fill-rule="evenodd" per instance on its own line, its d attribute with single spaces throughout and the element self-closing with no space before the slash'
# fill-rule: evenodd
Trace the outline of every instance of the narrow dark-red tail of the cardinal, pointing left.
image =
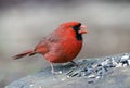
<svg viewBox="0 0 130 88">
<path fill-rule="evenodd" d="M 27 51 L 24 51 L 24 52 L 22 52 L 22 53 L 20 53 L 20 54 L 17 54 L 17 55 L 14 55 L 14 56 L 13 56 L 13 60 L 17 60 L 17 59 L 24 58 L 24 56 L 26 56 L 26 55 L 31 56 L 31 55 L 34 55 L 34 54 L 36 54 L 36 52 L 35 52 L 34 50 L 27 50 Z"/>
</svg>

